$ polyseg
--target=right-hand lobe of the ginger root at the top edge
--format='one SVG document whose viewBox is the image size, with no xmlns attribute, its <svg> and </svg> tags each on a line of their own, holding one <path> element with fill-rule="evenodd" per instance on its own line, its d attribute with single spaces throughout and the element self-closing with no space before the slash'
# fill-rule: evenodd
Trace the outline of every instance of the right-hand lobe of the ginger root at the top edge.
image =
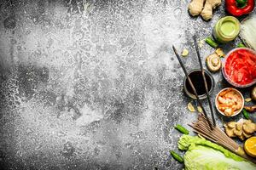
<svg viewBox="0 0 256 170">
<path fill-rule="evenodd" d="M 221 4 L 221 0 L 206 0 L 205 6 L 201 11 L 201 17 L 204 20 L 212 19 L 212 9 L 218 7 Z"/>
</svg>

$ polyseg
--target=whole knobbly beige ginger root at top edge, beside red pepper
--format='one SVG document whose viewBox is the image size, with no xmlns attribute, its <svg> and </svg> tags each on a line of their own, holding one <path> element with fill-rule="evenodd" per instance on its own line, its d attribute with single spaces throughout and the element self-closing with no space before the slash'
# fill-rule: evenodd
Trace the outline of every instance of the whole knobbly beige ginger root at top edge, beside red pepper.
<svg viewBox="0 0 256 170">
<path fill-rule="evenodd" d="M 201 14 L 204 20 L 212 18 L 212 9 L 217 8 L 221 4 L 221 0 L 192 0 L 189 3 L 189 14 L 197 16 Z"/>
</svg>

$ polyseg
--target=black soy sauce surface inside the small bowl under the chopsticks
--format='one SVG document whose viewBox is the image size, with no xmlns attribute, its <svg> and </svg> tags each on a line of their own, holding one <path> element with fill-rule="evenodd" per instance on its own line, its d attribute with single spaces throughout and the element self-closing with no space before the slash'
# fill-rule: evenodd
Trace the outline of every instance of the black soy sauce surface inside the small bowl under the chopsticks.
<svg viewBox="0 0 256 170">
<path fill-rule="evenodd" d="M 209 77 L 209 75 L 207 75 L 207 72 L 205 72 L 205 76 L 206 76 L 206 80 L 207 80 L 208 91 L 210 91 L 210 89 L 212 87 L 212 80 Z M 201 75 L 201 71 L 191 72 L 189 74 L 189 78 L 190 78 L 191 82 L 193 82 L 196 93 L 198 95 L 206 94 L 206 88 L 205 88 L 205 84 L 204 84 L 204 79 Z M 186 80 L 185 86 L 188 89 L 190 94 L 194 94 L 193 89 L 190 87 L 190 84 L 189 84 L 188 80 Z"/>
</svg>

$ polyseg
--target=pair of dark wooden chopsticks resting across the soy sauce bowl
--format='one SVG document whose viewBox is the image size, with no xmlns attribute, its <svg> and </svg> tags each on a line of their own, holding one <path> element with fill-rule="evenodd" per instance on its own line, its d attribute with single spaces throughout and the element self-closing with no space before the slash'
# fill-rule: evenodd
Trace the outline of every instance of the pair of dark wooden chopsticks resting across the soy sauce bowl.
<svg viewBox="0 0 256 170">
<path fill-rule="evenodd" d="M 202 63 L 201 63 L 201 55 L 200 55 L 200 52 L 199 52 L 199 48 L 198 48 L 198 45 L 197 45 L 197 42 L 196 42 L 196 36 L 195 35 L 193 36 L 193 39 L 194 39 L 196 54 L 197 54 L 197 57 L 198 57 L 198 60 L 199 60 L 199 63 L 200 63 L 200 67 L 201 67 L 201 74 L 202 74 L 202 77 L 203 77 L 203 80 L 204 80 L 204 84 L 205 84 L 205 88 L 206 88 L 207 101 L 209 103 L 209 107 L 210 107 L 210 111 L 211 111 L 212 122 L 213 122 L 213 126 L 215 127 L 216 126 L 216 122 L 215 122 L 215 119 L 214 119 L 214 114 L 213 114 L 213 109 L 212 109 L 212 101 L 210 99 L 210 95 L 209 95 L 209 91 L 208 91 L 208 87 L 207 87 L 207 79 L 206 79 L 205 71 L 204 71 Z M 201 106 L 202 112 L 203 112 L 204 116 L 206 116 L 208 125 L 211 128 L 211 130 L 212 130 L 212 122 L 209 120 L 209 117 L 207 116 L 207 112 L 206 112 L 206 110 L 204 109 L 204 107 L 201 104 L 201 99 L 199 99 L 199 96 L 198 96 L 198 94 L 197 94 L 197 92 L 195 90 L 195 86 L 194 86 L 193 82 L 191 81 L 191 79 L 189 77 L 189 74 L 186 71 L 186 68 L 183 65 L 183 62 L 182 62 L 179 54 L 177 53 L 177 49 L 173 45 L 172 45 L 172 49 L 173 49 L 174 53 L 176 54 L 177 60 L 178 60 L 179 64 L 181 65 L 181 67 L 183 69 L 183 72 L 184 72 L 185 76 L 187 77 L 187 79 L 189 81 L 189 85 L 191 86 L 191 88 L 192 88 L 192 90 L 193 90 L 193 92 L 195 94 L 197 103 Z"/>
</svg>

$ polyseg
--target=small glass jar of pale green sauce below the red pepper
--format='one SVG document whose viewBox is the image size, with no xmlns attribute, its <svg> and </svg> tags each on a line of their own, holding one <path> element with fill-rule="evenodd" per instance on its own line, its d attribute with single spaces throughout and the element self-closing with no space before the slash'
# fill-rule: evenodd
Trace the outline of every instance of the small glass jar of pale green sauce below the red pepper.
<svg viewBox="0 0 256 170">
<path fill-rule="evenodd" d="M 240 22 L 233 16 L 218 20 L 213 28 L 213 37 L 217 42 L 226 43 L 234 40 L 240 31 Z"/>
</svg>

